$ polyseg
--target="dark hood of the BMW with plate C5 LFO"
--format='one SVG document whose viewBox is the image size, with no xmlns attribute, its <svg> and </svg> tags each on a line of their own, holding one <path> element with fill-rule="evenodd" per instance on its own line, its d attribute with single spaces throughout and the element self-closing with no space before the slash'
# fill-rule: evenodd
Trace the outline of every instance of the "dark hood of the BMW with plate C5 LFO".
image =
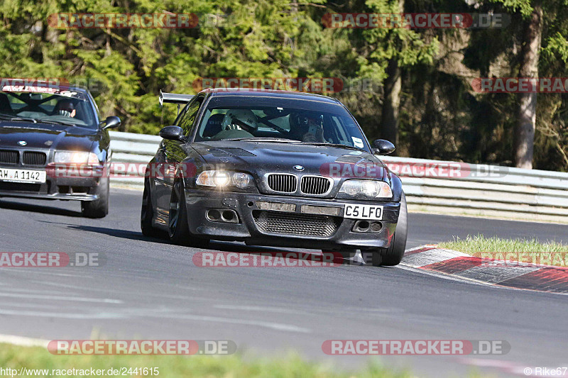
<svg viewBox="0 0 568 378">
<path fill-rule="evenodd" d="M 300 143 L 267 143 L 215 141 L 194 143 L 192 147 L 208 165 L 239 169 L 262 177 L 266 173 L 286 172 L 317 174 L 346 178 L 377 178 L 389 181 L 383 162 L 371 153 L 349 148 L 305 145 Z M 302 170 L 294 167 L 300 165 Z M 359 169 L 354 171 L 354 167 Z M 361 167 L 371 167 L 365 173 Z M 300 168 L 300 167 L 298 167 Z"/>
</svg>

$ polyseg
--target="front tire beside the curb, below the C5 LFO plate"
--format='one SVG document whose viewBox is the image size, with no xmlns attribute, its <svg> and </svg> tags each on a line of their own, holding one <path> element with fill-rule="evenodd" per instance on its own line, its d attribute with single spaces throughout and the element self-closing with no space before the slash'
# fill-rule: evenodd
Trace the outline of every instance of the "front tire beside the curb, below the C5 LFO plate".
<svg viewBox="0 0 568 378">
<path fill-rule="evenodd" d="M 366 262 L 371 260 L 373 267 L 385 266 L 393 267 L 400 264 L 403 260 L 406 250 L 406 237 L 408 235 L 408 211 L 406 209 L 406 196 L 403 192 L 400 199 L 400 213 L 398 214 L 398 223 L 388 248 L 378 248 L 378 250 L 361 251 L 364 254 Z M 371 255 L 371 256 L 369 256 Z M 370 257 L 370 258 L 369 258 Z"/>
</svg>

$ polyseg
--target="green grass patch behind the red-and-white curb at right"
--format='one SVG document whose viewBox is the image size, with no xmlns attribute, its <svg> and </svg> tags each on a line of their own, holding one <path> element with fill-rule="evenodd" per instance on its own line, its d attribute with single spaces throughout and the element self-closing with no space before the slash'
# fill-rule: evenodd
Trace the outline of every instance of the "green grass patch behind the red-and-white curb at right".
<svg viewBox="0 0 568 378">
<path fill-rule="evenodd" d="M 568 245 L 555 241 L 541 243 L 535 238 L 510 240 L 485 238 L 484 235 L 468 235 L 465 239 L 454 238 L 453 241 L 439 243 L 438 246 L 488 259 L 532 262 L 558 267 L 568 266 Z"/>
</svg>

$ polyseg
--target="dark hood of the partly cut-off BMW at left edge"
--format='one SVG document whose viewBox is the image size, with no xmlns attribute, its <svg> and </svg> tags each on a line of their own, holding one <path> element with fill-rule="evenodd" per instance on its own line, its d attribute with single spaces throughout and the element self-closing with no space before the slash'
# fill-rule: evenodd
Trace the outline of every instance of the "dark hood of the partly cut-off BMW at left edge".
<svg viewBox="0 0 568 378">
<path fill-rule="evenodd" d="M 97 138 L 97 130 L 77 126 L 46 123 L 0 122 L 0 146 L 21 148 L 53 148 L 57 150 L 88 151 Z"/>
</svg>

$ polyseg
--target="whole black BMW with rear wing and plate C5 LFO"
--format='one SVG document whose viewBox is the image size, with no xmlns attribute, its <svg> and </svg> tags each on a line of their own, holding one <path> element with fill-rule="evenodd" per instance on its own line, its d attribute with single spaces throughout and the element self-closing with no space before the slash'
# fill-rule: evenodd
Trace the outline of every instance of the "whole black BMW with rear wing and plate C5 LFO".
<svg viewBox="0 0 568 378">
<path fill-rule="evenodd" d="M 182 245 L 239 240 L 397 265 L 406 245 L 400 179 L 336 99 L 288 91 L 161 94 L 185 104 L 146 170 L 141 228 Z M 187 104 L 186 104 L 187 103 Z"/>
</svg>

